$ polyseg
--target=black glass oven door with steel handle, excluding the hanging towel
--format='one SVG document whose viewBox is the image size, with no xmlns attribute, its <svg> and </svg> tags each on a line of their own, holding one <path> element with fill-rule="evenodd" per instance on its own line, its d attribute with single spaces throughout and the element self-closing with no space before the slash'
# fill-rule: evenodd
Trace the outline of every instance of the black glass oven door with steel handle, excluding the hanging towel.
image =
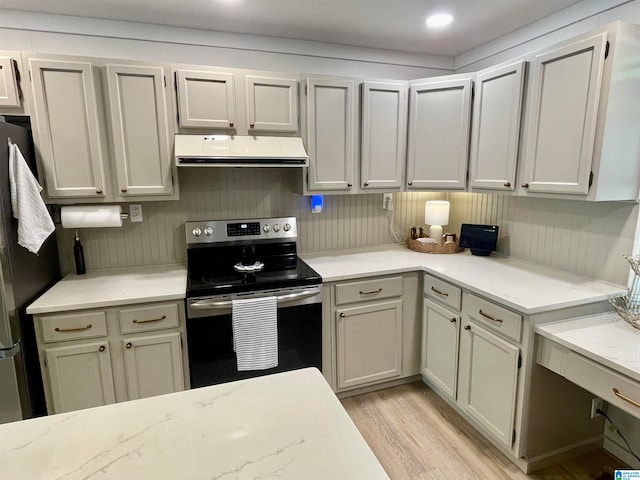
<svg viewBox="0 0 640 480">
<path fill-rule="evenodd" d="M 278 366 L 238 371 L 233 351 L 231 301 L 261 296 L 278 299 Z M 298 368 L 322 370 L 322 286 L 190 298 L 187 343 L 192 388 Z"/>
</svg>

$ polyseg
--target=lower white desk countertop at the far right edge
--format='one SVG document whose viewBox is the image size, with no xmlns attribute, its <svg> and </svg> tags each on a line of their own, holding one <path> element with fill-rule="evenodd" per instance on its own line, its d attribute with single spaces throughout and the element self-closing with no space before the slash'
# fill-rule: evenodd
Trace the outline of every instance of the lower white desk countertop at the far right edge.
<svg viewBox="0 0 640 480">
<path fill-rule="evenodd" d="M 640 382 L 640 330 L 615 312 L 538 325 L 535 332 Z"/>
</svg>

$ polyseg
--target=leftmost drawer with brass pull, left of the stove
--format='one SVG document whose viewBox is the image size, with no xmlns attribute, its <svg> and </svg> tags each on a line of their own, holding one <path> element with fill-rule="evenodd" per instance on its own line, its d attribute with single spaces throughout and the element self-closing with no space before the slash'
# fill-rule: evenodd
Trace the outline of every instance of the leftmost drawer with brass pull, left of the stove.
<svg viewBox="0 0 640 480">
<path fill-rule="evenodd" d="M 106 313 L 82 312 L 38 317 L 44 343 L 107 336 Z"/>
</svg>

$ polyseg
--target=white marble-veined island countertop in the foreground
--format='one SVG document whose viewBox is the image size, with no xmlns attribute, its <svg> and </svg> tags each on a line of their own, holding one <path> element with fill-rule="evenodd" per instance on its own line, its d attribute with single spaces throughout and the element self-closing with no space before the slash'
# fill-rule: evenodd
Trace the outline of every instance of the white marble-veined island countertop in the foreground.
<svg viewBox="0 0 640 480">
<path fill-rule="evenodd" d="M 0 425 L 0 477 L 389 477 L 316 369 Z"/>
</svg>

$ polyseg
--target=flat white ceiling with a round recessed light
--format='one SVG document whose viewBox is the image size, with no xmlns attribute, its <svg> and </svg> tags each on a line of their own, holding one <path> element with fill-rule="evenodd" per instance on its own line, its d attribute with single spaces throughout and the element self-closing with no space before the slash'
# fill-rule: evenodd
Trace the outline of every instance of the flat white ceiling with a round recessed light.
<svg viewBox="0 0 640 480">
<path fill-rule="evenodd" d="M 2 0 L 2 8 L 456 57 L 580 0 Z M 454 23 L 429 31 L 428 15 Z"/>
</svg>

